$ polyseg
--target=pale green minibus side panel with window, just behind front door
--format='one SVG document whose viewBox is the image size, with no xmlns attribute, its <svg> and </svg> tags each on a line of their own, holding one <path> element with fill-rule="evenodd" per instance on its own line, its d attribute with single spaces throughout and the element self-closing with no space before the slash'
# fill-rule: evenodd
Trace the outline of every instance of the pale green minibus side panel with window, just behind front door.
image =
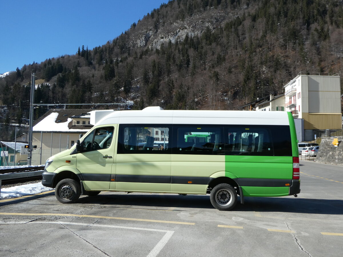
<svg viewBox="0 0 343 257">
<path fill-rule="evenodd" d="M 120 125 L 116 190 L 170 192 L 170 127 Z"/>
</svg>

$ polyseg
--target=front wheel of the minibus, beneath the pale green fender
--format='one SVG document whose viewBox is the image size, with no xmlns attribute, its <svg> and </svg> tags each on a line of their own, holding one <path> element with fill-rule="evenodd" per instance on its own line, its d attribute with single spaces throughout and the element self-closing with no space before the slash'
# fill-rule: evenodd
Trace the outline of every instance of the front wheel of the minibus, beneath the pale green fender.
<svg viewBox="0 0 343 257">
<path fill-rule="evenodd" d="M 63 179 L 56 185 L 55 196 L 62 204 L 71 204 L 79 199 L 81 185 L 73 179 Z"/>
</svg>

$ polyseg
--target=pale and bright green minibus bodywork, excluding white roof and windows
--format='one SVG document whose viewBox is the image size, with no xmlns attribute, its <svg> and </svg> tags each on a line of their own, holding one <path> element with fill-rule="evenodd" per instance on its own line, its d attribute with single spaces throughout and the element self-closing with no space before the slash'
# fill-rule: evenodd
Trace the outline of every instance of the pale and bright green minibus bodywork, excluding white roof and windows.
<svg viewBox="0 0 343 257">
<path fill-rule="evenodd" d="M 107 148 L 76 152 L 76 145 L 74 145 L 71 149 L 60 152 L 49 159 L 52 164 L 46 165 L 42 183 L 55 187 L 58 181 L 69 178 L 80 181 L 83 192 L 123 191 L 176 194 L 207 194 L 216 185 L 229 184 L 241 196 L 242 203 L 243 197 L 246 196 L 297 194 L 300 189 L 291 189 L 292 183 L 296 182 L 293 177 L 294 157 L 298 157 L 296 132 L 292 114 L 288 113 L 287 116 L 292 142 L 289 145 L 291 147 L 289 156 L 244 155 L 245 150 L 240 150 L 243 151 L 243 155 L 179 154 L 177 151 L 181 148 L 173 148 L 173 152 L 170 150 L 169 154 L 160 154 L 154 151 L 155 149 L 144 154 L 137 151 L 118 153 L 117 148 L 121 147 L 121 140 L 123 140 L 120 138 L 123 128 L 120 123 L 105 122 L 94 126 L 80 140 L 82 142 L 98 128 L 113 127 L 113 139 Z M 174 130 L 176 129 L 173 129 L 175 134 Z M 228 131 L 230 132 L 230 129 Z M 250 134 L 250 138 L 253 138 L 252 135 L 257 138 L 257 134 L 246 134 L 247 136 Z M 190 136 L 188 139 L 186 139 L 187 136 L 184 138 L 185 143 L 193 140 Z M 209 135 L 205 141 L 208 143 L 210 140 Z M 242 142 L 243 140 L 248 139 L 246 137 L 241 139 Z M 238 140 L 235 139 L 235 142 Z M 195 143 L 194 139 L 194 145 Z M 170 145 L 171 140 L 169 147 Z M 257 145 L 255 147 L 257 149 Z M 282 181 L 285 181 L 284 185 Z M 299 180 L 296 183 L 299 183 Z"/>
</svg>

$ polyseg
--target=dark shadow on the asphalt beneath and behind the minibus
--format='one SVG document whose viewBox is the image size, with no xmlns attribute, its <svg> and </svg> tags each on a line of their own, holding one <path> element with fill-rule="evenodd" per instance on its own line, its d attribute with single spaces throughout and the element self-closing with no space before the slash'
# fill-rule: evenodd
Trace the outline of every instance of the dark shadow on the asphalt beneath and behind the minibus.
<svg viewBox="0 0 343 257">
<path fill-rule="evenodd" d="M 240 198 L 234 211 L 294 212 L 312 214 L 343 214 L 343 200 L 306 199 L 285 197 L 245 197 L 244 205 Z M 131 207 L 179 207 L 214 209 L 209 195 L 147 195 L 147 194 L 109 194 L 80 198 L 77 203 L 121 205 Z"/>
</svg>

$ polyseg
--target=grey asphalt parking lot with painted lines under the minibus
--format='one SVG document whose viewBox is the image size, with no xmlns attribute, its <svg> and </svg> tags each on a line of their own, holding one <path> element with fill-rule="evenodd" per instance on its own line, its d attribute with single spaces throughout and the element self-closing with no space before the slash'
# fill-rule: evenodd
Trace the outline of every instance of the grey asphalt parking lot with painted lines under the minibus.
<svg viewBox="0 0 343 257">
<path fill-rule="evenodd" d="M 0 256 L 342 256 L 343 167 L 300 161 L 297 198 L 102 192 L 0 201 Z"/>
</svg>

